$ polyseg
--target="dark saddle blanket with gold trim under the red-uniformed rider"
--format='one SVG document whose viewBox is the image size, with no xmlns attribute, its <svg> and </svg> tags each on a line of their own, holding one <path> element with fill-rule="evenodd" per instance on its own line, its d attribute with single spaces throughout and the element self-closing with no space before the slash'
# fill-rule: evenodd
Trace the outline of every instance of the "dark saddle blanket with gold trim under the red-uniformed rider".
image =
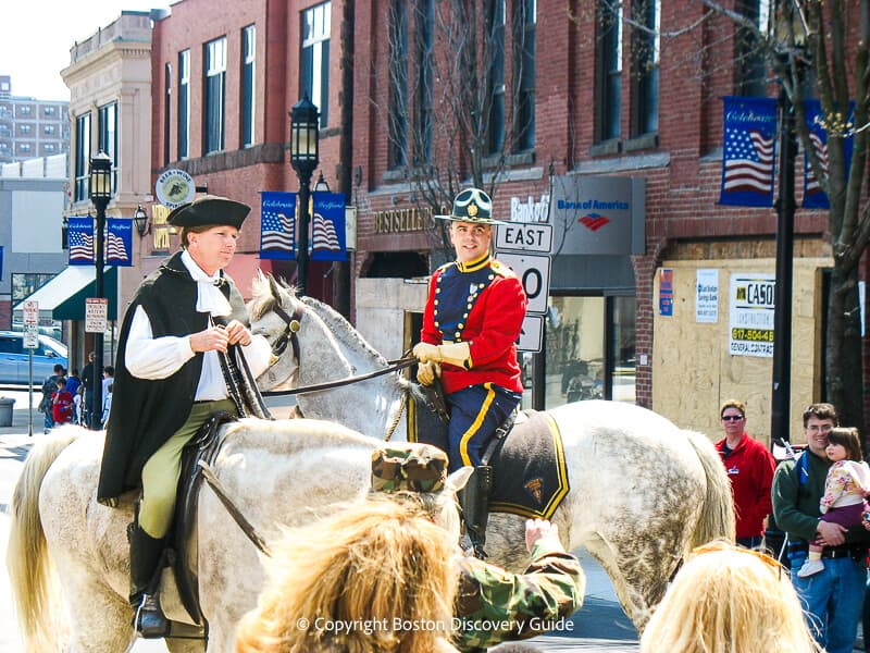
<svg viewBox="0 0 870 653">
<path fill-rule="evenodd" d="M 409 405 L 408 440 L 447 448 L 447 424 L 425 405 Z M 536 410 L 520 414 L 496 447 L 489 510 L 549 519 L 571 489 L 562 435 L 550 416 Z"/>
</svg>

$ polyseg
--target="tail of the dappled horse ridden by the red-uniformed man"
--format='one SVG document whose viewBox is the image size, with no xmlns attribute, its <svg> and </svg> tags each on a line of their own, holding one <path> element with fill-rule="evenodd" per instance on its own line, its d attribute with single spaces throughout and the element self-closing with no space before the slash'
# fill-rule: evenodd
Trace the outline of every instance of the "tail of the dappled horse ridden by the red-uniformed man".
<svg viewBox="0 0 870 653">
<path fill-rule="evenodd" d="M 707 477 L 707 493 L 704 497 L 700 518 L 692 533 L 692 546 L 706 544 L 710 540 L 725 539 L 734 542 L 734 501 L 731 494 L 731 481 L 722 465 L 722 458 L 706 435 L 695 431 L 684 431 L 688 442 L 704 467 Z"/>
</svg>

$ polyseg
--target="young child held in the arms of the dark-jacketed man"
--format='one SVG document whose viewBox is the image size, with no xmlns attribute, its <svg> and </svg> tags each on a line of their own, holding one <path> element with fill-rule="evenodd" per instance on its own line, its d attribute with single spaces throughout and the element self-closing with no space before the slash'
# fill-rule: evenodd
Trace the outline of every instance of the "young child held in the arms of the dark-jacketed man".
<svg viewBox="0 0 870 653">
<path fill-rule="evenodd" d="M 828 470 L 824 495 L 819 502 L 821 519 L 842 526 L 859 526 L 865 512 L 865 496 L 870 492 L 870 467 L 861 460 L 858 429 L 831 429 L 825 453 L 834 464 Z M 810 542 L 809 557 L 797 572 L 799 578 L 824 569 L 822 549 L 820 544 Z"/>
</svg>

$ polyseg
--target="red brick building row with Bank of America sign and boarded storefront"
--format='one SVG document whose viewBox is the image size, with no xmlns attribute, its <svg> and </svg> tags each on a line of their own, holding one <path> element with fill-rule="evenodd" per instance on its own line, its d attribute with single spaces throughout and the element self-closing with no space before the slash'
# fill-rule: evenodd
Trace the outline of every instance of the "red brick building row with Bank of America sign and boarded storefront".
<svg viewBox="0 0 870 653">
<path fill-rule="evenodd" d="M 549 221 L 559 239 L 535 326 L 543 353 L 524 360 L 530 403 L 563 403 L 574 382 L 712 434 L 719 403 L 737 396 L 765 435 L 771 361 L 730 353 L 729 288 L 773 273 L 775 213 L 718 198 L 721 98 L 775 88 L 733 23 L 703 20 L 691 0 L 208 4 L 183 0 L 154 23 L 152 176 L 183 168 L 253 207 L 262 190 L 296 190 L 287 112 L 307 94 L 322 173 L 358 217 L 350 266 L 312 263 L 309 293 L 338 303 L 347 274 L 350 316 L 382 352 L 415 341 L 424 279 L 448 256 L 432 214 L 478 184 L 499 217 Z M 474 12 L 450 14 L 460 8 Z M 480 35 L 476 59 L 468 34 Z M 470 64 L 476 73 L 451 76 Z M 602 199 L 583 201 L 624 214 L 576 213 L 591 193 Z M 586 218 L 598 229 L 569 229 Z M 623 231 L 608 239 L 601 218 Z M 294 273 L 257 260 L 258 221 L 254 209 L 233 270 L 243 288 L 254 266 Z M 795 416 L 821 393 L 825 229 L 825 213 L 797 211 Z M 714 280 L 708 321 L 699 275 Z"/>
</svg>

